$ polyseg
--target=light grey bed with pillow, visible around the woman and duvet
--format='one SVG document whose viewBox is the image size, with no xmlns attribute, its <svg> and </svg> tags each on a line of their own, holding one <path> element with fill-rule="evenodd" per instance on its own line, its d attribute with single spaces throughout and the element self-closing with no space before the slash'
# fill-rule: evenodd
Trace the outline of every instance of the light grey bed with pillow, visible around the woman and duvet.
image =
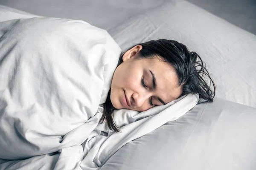
<svg viewBox="0 0 256 170">
<path fill-rule="evenodd" d="M 0 6 L 1 21 L 33 14 L 84 20 L 107 30 L 122 50 L 164 37 L 183 42 L 206 62 L 216 83 L 214 102 L 198 103 L 179 119 L 124 144 L 99 167 L 82 169 L 256 169 L 255 35 L 183 0 L 1 3 L 5 5 Z M 0 159 L 0 169 L 83 167 L 62 162 L 57 168 L 57 160 L 55 154 L 23 162 Z"/>
</svg>

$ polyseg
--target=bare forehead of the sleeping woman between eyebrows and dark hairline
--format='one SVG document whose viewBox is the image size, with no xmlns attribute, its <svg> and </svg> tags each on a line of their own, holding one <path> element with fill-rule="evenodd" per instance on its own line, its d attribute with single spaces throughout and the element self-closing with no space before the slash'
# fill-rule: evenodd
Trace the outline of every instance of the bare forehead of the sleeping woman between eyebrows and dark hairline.
<svg viewBox="0 0 256 170">
<path fill-rule="evenodd" d="M 156 78 L 156 95 L 165 102 L 177 99 L 181 94 L 181 88 L 178 85 L 175 68 L 157 57 L 141 60 L 143 62 L 143 69 L 146 73 L 149 73 L 148 77 L 152 77 L 149 72 L 151 71 Z"/>
</svg>

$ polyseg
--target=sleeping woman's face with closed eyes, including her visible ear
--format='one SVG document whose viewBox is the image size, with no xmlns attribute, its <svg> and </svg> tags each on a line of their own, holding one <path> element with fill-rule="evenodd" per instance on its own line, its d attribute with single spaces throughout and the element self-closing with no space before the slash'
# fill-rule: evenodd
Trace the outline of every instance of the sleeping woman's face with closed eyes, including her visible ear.
<svg viewBox="0 0 256 170">
<path fill-rule="evenodd" d="M 141 49 L 136 45 L 126 51 L 113 74 L 111 102 L 116 109 L 146 111 L 181 94 L 174 68 L 157 57 L 137 59 Z"/>
</svg>

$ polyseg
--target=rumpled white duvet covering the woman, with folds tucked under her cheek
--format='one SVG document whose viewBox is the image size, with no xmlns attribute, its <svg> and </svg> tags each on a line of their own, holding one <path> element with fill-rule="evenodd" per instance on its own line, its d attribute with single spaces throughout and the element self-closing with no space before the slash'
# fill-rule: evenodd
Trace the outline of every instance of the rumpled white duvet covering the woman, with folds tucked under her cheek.
<svg viewBox="0 0 256 170">
<path fill-rule="evenodd" d="M 188 95 L 99 124 L 121 49 L 100 28 L 34 17 L 0 23 L 0 169 L 98 169 L 127 142 L 176 120 Z"/>
</svg>

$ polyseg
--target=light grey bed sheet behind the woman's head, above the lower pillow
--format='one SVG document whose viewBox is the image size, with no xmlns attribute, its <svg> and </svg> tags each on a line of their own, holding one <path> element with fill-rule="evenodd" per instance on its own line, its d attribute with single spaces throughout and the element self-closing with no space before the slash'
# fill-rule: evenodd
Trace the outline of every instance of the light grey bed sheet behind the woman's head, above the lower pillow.
<svg viewBox="0 0 256 170">
<path fill-rule="evenodd" d="M 33 14 L 85 20 L 106 29 L 122 50 L 174 39 L 197 51 L 216 96 L 256 107 L 256 36 L 184 0 L 2 0 Z"/>
</svg>

